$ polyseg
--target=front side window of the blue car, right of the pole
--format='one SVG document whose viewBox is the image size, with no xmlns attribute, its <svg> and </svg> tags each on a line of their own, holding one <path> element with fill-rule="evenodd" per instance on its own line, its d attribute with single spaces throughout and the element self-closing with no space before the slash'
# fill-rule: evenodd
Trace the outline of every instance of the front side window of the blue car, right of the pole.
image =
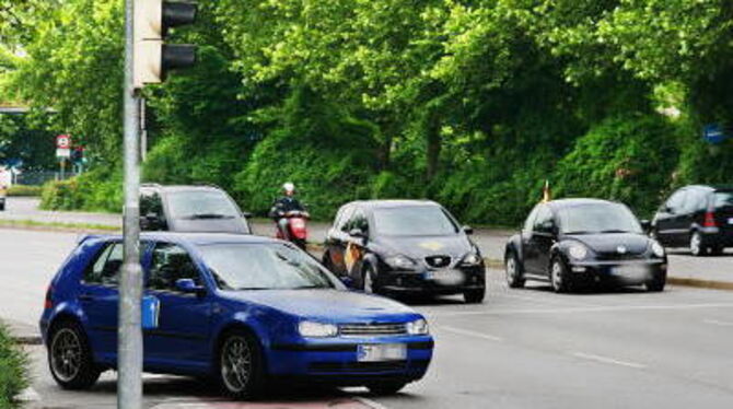
<svg viewBox="0 0 733 409">
<path fill-rule="evenodd" d="M 175 291 L 176 281 L 181 279 L 191 279 L 196 285 L 202 285 L 198 268 L 188 252 L 175 244 L 156 244 L 153 249 L 147 288 Z"/>
</svg>

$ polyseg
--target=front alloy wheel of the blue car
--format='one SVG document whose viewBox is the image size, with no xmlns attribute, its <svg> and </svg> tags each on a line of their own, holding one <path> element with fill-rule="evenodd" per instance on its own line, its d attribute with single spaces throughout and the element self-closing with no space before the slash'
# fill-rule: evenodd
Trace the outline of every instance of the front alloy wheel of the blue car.
<svg viewBox="0 0 733 409">
<path fill-rule="evenodd" d="M 221 351 L 221 378 L 226 388 L 240 394 L 249 386 L 253 374 L 252 349 L 247 340 L 233 336 Z"/>
</svg>

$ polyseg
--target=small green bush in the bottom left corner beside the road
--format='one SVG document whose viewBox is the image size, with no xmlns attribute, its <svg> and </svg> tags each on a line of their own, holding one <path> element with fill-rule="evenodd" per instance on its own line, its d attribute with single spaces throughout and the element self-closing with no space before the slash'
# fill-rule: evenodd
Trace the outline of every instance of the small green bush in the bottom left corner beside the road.
<svg viewBox="0 0 733 409">
<path fill-rule="evenodd" d="M 14 407 L 13 398 L 27 387 L 27 365 L 25 353 L 0 325 L 0 408 Z"/>
</svg>

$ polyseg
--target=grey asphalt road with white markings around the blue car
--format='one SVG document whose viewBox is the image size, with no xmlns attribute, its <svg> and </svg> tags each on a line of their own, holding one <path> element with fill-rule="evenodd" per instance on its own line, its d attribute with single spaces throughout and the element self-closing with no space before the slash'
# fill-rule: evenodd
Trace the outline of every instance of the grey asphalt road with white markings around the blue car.
<svg viewBox="0 0 733 409">
<path fill-rule="evenodd" d="M 74 234 L 0 230 L 0 317 L 35 325 L 50 277 Z M 677 260 L 706 268 L 711 259 Z M 730 257 L 713 259 L 729 262 Z M 683 262 L 679 262 L 680 265 Z M 718 266 L 717 264 L 713 264 Z M 725 408 L 733 407 L 733 293 L 670 287 L 557 295 L 544 285 L 509 290 L 489 271 L 487 302 L 416 304 L 437 338 L 428 376 L 394 397 L 363 390 L 279 390 L 231 405 L 186 378 L 146 377 L 147 407 L 162 408 Z M 114 407 L 115 374 L 89 393 L 60 390 L 34 359 L 31 408 Z M 354 400 L 357 399 L 357 400 Z"/>
</svg>

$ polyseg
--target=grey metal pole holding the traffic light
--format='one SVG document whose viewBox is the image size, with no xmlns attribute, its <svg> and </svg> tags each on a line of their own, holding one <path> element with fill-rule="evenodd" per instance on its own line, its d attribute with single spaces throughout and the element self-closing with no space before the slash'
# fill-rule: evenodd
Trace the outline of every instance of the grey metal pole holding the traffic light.
<svg viewBox="0 0 733 409">
<path fill-rule="evenodd" d="M 132 85 L 135 0 L 125 2 L 125 210 L 124 262 L 119 287 L 117 408 L 142 408 L 140 299 L 140 102 Z"/>
</svg>

